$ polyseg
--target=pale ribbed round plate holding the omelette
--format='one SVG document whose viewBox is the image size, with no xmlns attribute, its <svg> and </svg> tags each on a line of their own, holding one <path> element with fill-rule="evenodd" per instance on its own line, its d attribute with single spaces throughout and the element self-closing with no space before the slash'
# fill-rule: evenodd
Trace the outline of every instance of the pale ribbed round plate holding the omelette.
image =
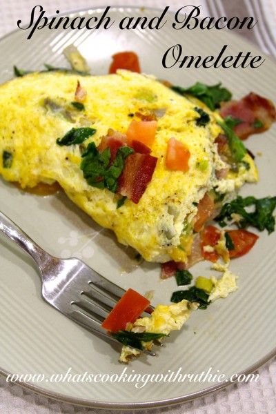
<svg viewBox="0 0 276 414">
<path fill-rule="evenodd" d="M 101 9 L 77 12 L 88 17 Z M 119 21 L 126 15 L 156 16 L 157 10 L 112 8 L 109 15 Z M 74 42 L 86 57 L 92 72 L 104 74 L 110 57 L 119 50 L 135 50 L 141 68 L 160 79 L 188 86 L 195 81 L 209 84 L 221 81 L 235 97 L 253 90 L 275 99 L 275 64 L 266 57 L 258 69 L 179 69 L 166 70 L 161 57 L 172 45 L 181 43 L 185 55 L 217 55 L 221 47 L 237 55 L 251 50 L 264 55 L 230 32 L 214 30 L 172 30 L 170 19 L 163 29 L 109 30 L 39 30 L 32 40 L 27 32 L 12 32 L 0 41 L 0 79 L 12 77 L 12 66 L 41 69 L 43 63 L 65 66 L 62 50 Z M 5 57 L 5 59 L 3 59 Z M 275 195 L 276 140 L 275 126 L 262 135 L 254 135 L 246 146 L 255 154 L 260 172 L 259 184 L 245 186 L 243 194 L 262 197 Z M 78 255 L 99 273 L 124 288 L 142 294 L 155 290 L 153 304 L 168 303 L 176 288 L 175 280 L 159 280 L 159 265 L 144 264 L 131 273 L 122 273 L 134 265 L 131 249 L 119 246 L 115 237 L 101 230 L 92 219 L 75 207 L 65 195 L 36 197 L 0 183 L 1 210 L 50 253 Z M 219 299 L 206 311 L 195 312 L 181 333 L 172 333 L 158 357 L 142 356 L 130 363 L 127 373 L 154 374 L 170 371 L 201 373 L 213 367 L 227 377 L 248 372 L 276 353 L 276 233 L 264 232 L 253 250 L 231 264 L 239 275 L 239 290 L 227 299 Z M 117 352 L 41 300 L 41 284 L 34 264 L 12 244 L 1 238 L 0 277 L 0 367 L 3 373 L 112 373 L 120 374 L 124 366 L 117 362 Z M 210 274 L 207 263 L 193 268 L 193 274 Z M 134 370 L 134 372 L 132 372 Z M 43 381 L 30 384 L 46 395 L 67 402 L 110 408 L 139 408 L 184 402 L 226 384 L 208 382 L 150 383 L 142 388 L 135 382 L 74 383 Z"/>
</svg>

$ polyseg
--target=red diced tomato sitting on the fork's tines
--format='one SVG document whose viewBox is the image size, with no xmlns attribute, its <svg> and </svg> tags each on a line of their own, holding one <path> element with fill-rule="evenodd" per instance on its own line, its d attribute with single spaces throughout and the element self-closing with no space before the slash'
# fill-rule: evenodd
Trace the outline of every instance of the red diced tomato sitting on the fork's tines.
<svg viewBox="0 0 276 414">
<path fill-rule="evenodd" d="M 128 289 L 101 326 L 110 332 L 124 331 L 126 324 L 135 322 L 149 305 L 150 301 L 146 297 L 133 289 Z"/>
</svg>

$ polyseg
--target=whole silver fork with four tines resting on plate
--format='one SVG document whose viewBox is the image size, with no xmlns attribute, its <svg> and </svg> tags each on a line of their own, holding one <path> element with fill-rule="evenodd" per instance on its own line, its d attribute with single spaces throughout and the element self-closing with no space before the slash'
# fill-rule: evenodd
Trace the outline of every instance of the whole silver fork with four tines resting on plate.
<svg viewBox="0 0 276 414">
<path fill-rule="evenodd" d="M 118 343 L 117 339 L 101 328 L 101 323 L 126 290 L 99 275 L 79 259 L 59 259 L 49 255 L 1 212 L 0 231 L 37 263 L 41 273 L 42 297 L 48 304 L 88 331 L 108 342 Z M 152 310 L 150 306 L 148 313 Z M 147 350 L 144 353 L 156 355 Z"/>
</svg>

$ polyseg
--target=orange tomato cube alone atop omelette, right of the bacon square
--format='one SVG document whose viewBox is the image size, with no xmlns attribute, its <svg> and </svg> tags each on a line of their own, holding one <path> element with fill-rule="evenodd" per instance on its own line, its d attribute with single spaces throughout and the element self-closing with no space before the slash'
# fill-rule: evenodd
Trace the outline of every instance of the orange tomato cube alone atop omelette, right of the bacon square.
<svg viewBox="0 0 276 414">
<path fill-rule="evenodd" d="M 190 151 L 175 138 L 170 138 L 167 146 L 166 167 L 169 170 L 188 171 Z"/>
</svg>

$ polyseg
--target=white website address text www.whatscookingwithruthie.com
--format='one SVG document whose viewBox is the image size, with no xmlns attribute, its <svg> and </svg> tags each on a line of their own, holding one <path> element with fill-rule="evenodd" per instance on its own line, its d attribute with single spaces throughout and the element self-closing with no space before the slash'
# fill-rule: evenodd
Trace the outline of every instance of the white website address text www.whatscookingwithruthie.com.
<svg viewBox="0 0 276 414">
<path fill-rule="evenodd" d="M 43 384 L 43 382 L 72 382 L 72 383 L 115 383 L 115 382 L 128 382 L 135 385 L 136 388 L 143 388 L 148 383 L 160 383 L 160 382 L 206 382 L 208 384 L 221 384 L 232 382 L 257 382 L 259 380 L 258 373 L 251 374 L 233 374 L 227 377 L 226 374 L 221 373 L 219 369 L 215 370 L 210 366 L 207 371 L 201 371 L 201 373 L 185 373 L 182 367 L 179 367 L 177 371 L 168 369 L 166 373 L 138 373 L 134 369 L 125 367 L 121 373 L 74 373 L 72 368 L 68 368 L 66 373 L 53 373 L 51 375 L 45 375 L 43 373 L 25 373 L 25 374 L 8 374 L 7 382 L 19 382 L 19 383 L 37 383 Z"/>
</svg>

